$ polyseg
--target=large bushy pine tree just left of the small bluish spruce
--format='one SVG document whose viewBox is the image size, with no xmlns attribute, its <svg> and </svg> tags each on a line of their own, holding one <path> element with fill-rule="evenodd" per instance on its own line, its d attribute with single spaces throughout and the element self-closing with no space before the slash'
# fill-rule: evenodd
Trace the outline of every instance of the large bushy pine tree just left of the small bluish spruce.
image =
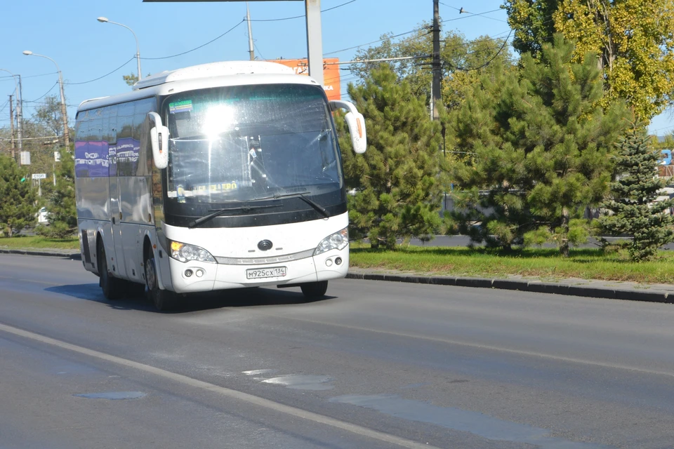
<svg viewBox="0 0 674 449">
<path fill-rule="evenodd" d="M 595 59 L 571 62 L 573 44 L 556 35 L 519 73 L 483 76 L 450 122 L 456 164 L 454 219 L 473 241 L 510 248 L 556 241 L 562 255 L 586 236 L 583 210 L 600 203 L 626 108 L 604 110 Z M 526 238 L 525 238 L 526 237 Z"/>
</svg>

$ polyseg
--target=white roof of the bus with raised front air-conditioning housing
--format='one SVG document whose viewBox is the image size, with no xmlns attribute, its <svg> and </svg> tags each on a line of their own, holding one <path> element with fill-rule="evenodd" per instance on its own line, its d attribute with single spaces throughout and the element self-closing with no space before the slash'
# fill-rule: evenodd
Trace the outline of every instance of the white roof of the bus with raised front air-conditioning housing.
<svg viewBox="0 0 674 449">
<path fill-rule="evenodd" d="M 191 89 L 258 83 L 318 84 L 309 76 L 297 75 L 291 67 L 276 62 L 211 62 L 148 76 L 138 81 L 131 92 L 84 100 L 77 110 L 94 109 L 152 95 L 169 95 Z"/>
</svg>

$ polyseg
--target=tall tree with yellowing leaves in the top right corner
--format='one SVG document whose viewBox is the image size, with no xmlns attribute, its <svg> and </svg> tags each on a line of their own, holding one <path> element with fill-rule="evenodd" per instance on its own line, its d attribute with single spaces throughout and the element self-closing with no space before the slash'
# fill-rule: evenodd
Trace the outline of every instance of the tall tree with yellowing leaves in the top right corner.
<svg viewBox="0 0 674 449">
<path fill-rule="evenodd" d="M 637 121 L 650 121 L 674 92 L 674 0 L 505 0 L 513 45 L 540 53 L 562 32 L 576 41 L 574 60 L 597 55 L 607 91 L 602 104 L 627 100 Z"/>
</svg>

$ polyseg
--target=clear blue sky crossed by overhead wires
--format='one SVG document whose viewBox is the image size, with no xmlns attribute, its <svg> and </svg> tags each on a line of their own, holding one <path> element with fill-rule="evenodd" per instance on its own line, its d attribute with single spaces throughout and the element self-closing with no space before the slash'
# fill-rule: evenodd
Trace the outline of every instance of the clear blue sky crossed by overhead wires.
<svg viewBox="0 0 674 449">
<path fill-rule="evenodd" d="M 443 29 L 454 29 L 468 39 L 486 34 L 506 36 L 509 27 L 505 22 L 505 11 L 484 15 L 458 13 L 458 8 L 462 7 L 473 14 L 498 10 L 501 3 L 502 0 L 473 0 L 465 4 L 442 0 L 440 15 L 442 20 L 450 20 L 444 22 Z M 322 10 L 335 6 L 339 7 L 322 14 L 323 51 L 326 57 L 340 60 L 352 60 L 357 48 L 351 47 L 376 41 L 385 32 L 409 32 L 423 20 L 432 19 L 432 0 L 321 1 Z M 258 58 L 306 56 L 304 18 L 267 21 L 303 15 L 303 1 L 250 1 L 249 7 L 251 19 L 255 20 L 252 27 Z M 249 58 L 248 29 L 245 23 L 239 23 L 246 15 L 243 1 L 23 0 L 5 2 L 3 12 L 0 68 L 22 76 L 25 116 L 34 112 L 39 101 L 44 99 L 42 95 L 58 95 L 58 86 L 55 85 L 58 76 L 53 62 L 22 55 L 24 50 L 49 56 L 60 66 L 66 83 L 71 121 L 81 101 L 128 91 L 121 76 L 136 73 L 136 60 L 131 60 L 136 53 L 136 42 L 127 29 L 98 22 L 96 18 L 99 16 L 122 23 L 136 32 L 144 74 L 206 62 Z M 220 39 L 185 55 L 143 59 L 189 51 L 232 27 L 235 28 Z M 91 81 L 112 72 L 126 61 L 128 63 L 117 72 Z M 7 95 L 14 91 L 13 80 L 3 76 L 8 74 L 0 72 L 0 127 L 8 126 L 6 100 Z M 343 71 L 343 95 L 345 82 L 350 79 L 350 73 Z M 674 130 L 670 123 L 669 114 L 663 114 L 654 120 L 650 129 L 659 130 L 660 134 L 669 133 Z"/>
</svg>

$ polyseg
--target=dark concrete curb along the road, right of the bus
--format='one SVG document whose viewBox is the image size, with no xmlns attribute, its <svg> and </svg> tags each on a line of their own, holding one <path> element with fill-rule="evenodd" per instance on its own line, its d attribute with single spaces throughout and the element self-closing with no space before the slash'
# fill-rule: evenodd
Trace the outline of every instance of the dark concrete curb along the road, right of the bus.
<svg viewBox="0 0 674 449">
<path fill-rule="evenodd" d="M 674 304 L 674 294 L 663 291 L 625 290 L 620 288 L 600 288 L 597 286 L 569 286 L 563 283 L 526 281 L 516 279 L 465 278 L 451 276 L 417 276 L 414 274 L 381 274 L 381 273 L 349 273 L 347 279 L 363 279 L 366 281 L 389 281 L 407 283 L 427 283 L 441 286 L 457 286 L 471 288 L 495 288 L 501 290 L 518 290 L 534 293 L 553 293 L 555 295 L 571 295 L 581 297 L 600 297 L 609 300 L 629 300 L 644 302 L 663 302 Z"/>
</svg>

